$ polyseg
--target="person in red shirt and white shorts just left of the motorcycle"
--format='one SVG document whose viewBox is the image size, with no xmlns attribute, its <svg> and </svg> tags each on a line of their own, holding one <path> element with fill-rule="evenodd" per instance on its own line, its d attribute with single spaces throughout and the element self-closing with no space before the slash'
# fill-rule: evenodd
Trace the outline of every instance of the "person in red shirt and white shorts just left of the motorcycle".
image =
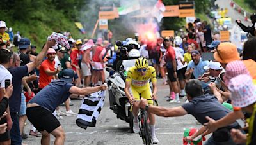
<svg viewBox="0 0 256 145">
<path fill-rule="evenodd" d="M 103 62 L 103 57 L 104 54 L 106 53 L 106 48 L 102 47 L 102 38 L 97 39 L 97 47 L 95 50 L 95 53 L 92 58 L 92 81 L 94 85 L 96 85 L 99 81 L 99 77 L 101 78 L 102 83 L 105 82 L 105 74 L 104 74 L 104 62 Z"/>
</svg>

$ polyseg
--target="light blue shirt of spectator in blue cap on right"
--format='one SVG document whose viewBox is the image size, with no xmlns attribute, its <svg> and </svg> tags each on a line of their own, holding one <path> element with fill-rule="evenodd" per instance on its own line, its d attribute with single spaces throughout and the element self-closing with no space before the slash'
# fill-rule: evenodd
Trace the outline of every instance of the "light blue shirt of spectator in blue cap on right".
<svg viewBox="0 0 256 145">
<path fill-rule="evenodd" d="M 188 63 L 188 67 L 187 70 L 189 70 L 189 68 L 193 68 L 193 75 L 195 76 L 195 79 L 197 79 L 199 76 L 202 76 L 206 70 L 204 69 L 204 66 L 207 66 L 209 64 L 209 61 L 202 61 L 202 59 L 200 58 L 200 61 L 197 65 L 195 65 L 195 63 L 193 62 L 193 60 L 191 60 Z M 207 88 L 207 83 L 204 83 L 203 81 L 201 81 L 202 84 L 202 88 Z"/>
</svg>

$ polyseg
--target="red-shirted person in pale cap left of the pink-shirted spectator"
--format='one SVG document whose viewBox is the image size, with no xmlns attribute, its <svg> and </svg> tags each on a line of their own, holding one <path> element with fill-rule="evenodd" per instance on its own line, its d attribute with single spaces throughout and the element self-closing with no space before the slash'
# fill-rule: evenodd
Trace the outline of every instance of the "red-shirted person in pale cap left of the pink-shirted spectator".
<svg viewBox="0 0 256 145">
<path fill-rule="evenodd" d="M 72 69 L 76 72 L 78 79 L 76 79 L 76 85 L 81 85 L 81 73 L 80 73 L 80 67 L 79 67 L 79 51 L 82 46 L 81 39 L 77 39 L 76 45 L 71 49 L 70 53 L 70 59 L 71 59 L 71 66 Z"/>
</svg>

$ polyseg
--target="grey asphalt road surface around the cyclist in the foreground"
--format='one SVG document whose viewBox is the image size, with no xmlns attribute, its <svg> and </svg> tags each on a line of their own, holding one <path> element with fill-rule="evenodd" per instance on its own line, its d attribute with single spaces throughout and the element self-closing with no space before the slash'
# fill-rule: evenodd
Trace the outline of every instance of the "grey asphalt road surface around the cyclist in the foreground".
<svg viewBox="0 0 256 145">
<path fill-rule="evenodd" d="M 168 95 L 169 88 L 167 85 L 161 85 L 162 80 L 158 79 L 157 95 L 159 97 L 159 106 L 176 107 L 180 104 L 169 104 L 164 96 Z M 184 103 L 185 99 L 182 99 Z M 71 106 L 72 111 L 78 112 L 81 105 L 81 100 L 72 100 L 74 106 Z M 65 111 L 65 107 L 60 107 Z M 200 128 L 196 125 L 196 120 L 191 115 L 173 118 L 156 117 L 156 135 L 159 139 L 159 144 L 182 144 L 184 128 Z M 29 134 L 30 123 L 25 127 L 26 134 Z M 92 145 L 121 145 L 121 144 L 143 144 L 139 134 L 132 134 L 129 130 L 129 124 L 125 121 L 116 118 L 116 114 L 109 109 L 108 94 L 106 95 L 104 107 L 97 120 L 96 127 L 88 127 L 87 130 L 79 128 L 76 125 L 76 116 L 63 116 L 60 120 L 61 126 L 66 133 L 65 144 L 92 144 Z M 31 137 L 23 140 L 26 144 L 40 144 L 40 137 Z M 54 137 L 51 136 L 51 144 L 54 143 Z"/>
</svg>

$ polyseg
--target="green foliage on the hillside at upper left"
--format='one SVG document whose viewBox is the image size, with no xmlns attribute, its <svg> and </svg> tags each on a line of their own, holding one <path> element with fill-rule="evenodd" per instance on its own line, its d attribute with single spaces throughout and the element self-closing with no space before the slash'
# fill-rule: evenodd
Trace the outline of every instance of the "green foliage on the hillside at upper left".
<svg viewBox="0 0 256 145">
<path fill-rule="evenodd" d="M 1 20 L 13 32 L 20 31 L 22 37 L 31 39 L 33 45 L 44 45 L 52 32 L 72 32 L 74 39 L 84 38 L 74 22 L 84 0 L 2 0 Z"/>
</svg>

